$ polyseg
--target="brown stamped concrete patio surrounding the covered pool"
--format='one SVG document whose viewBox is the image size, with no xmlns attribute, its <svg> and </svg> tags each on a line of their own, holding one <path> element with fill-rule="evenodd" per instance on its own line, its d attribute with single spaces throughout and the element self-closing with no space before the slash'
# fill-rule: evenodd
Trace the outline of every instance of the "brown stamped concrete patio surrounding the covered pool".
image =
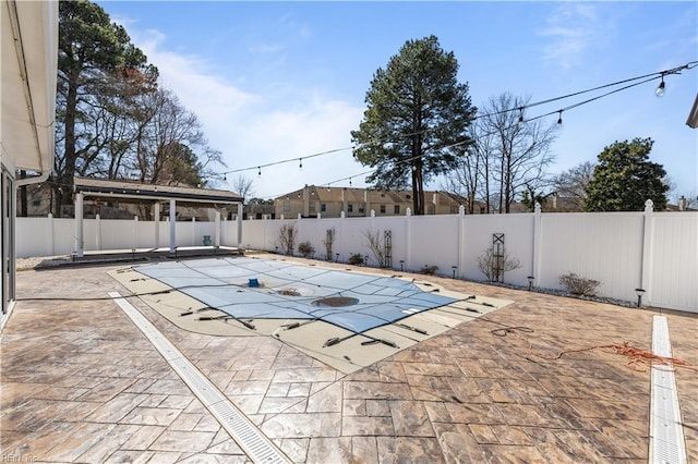
<svg viewBox="0 0 698 464">
<path fill-rule="evenodd" d="M 107 274 L 122 267 L 17 272 L 0 345 L 3 461 L 250 462 L 107 295 L 129 293 Z M 515 303 L 349 375 L 275 338 L 193 333 L 129 301 L 291 462 L 648 462 L 650 371 L 591 347 L 651 350 L 658 309 L 429 279 Z M 698 365 L 698 317 L 663 314 L 674 357 Z M 698 373 L 676 381 L 698 462 Z"/>
</svg>

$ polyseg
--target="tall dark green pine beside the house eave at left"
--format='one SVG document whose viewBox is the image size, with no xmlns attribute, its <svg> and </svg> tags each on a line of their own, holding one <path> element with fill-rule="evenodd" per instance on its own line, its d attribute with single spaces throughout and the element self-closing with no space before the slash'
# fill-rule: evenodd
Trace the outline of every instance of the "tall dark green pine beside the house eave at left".
<svg viewBox="0 0 698 464">
<path fill-rule="evenodd" d="M 104 110 L 112 109 L 98 96 L 134 86 L 136 80 L 154 85 L 157 78 L 157 69 L 130 40 L 101 7 L 87 0 L 59 3 L 57 206 L 71 202 L 73 176 L 85 175 L 100 151 L 123 148 L 98 129 Z"/>
</svg>

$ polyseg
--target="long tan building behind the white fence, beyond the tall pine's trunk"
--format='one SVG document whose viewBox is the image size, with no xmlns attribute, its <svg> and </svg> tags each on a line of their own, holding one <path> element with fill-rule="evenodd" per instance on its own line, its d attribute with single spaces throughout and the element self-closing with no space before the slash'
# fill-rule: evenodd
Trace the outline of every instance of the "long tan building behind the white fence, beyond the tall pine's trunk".
<svg viewBox="0 0 698 464">
<path fill-rule="evenodd" d="M 457 215 L 465 199 L 446 192 L 424 192 L 426 215 Z M 326 187 L 305 185 L 274 200 L 277 219 L 405 216 L 412 208 L 412 191 L 376 191 L 371 188 Z"/>
</svg>

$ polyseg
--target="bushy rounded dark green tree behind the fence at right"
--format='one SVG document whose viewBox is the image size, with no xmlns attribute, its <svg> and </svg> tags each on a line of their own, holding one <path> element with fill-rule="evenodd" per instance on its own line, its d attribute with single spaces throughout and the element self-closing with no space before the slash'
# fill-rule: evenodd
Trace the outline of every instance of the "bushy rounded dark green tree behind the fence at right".
<svg viewBox="0 0 698 464">
<path fill-rule="evenodd" d="M 635 138 L 603 149 L 587 186 L 587 211 L 642 211 L 648 199 L 654 210 L 666 209 L 666 171 L 649 160 L 653 143 Z"/>
</svg>

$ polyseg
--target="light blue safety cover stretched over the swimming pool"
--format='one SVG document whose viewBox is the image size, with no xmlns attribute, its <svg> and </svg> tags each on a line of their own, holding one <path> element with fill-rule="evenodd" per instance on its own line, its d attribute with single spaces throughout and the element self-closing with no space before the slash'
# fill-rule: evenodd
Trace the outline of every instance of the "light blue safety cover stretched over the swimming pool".
<svg viewBox="0 0 698 464">
<path fill-rule="evenodd" d="M 135 269 L 238 319 L 318 319 L 356 333 L 456 301 L 401 279 L 256 258 L 160 262 Z M 347 306 L 318 304 L 327 297 L 334 304 L 346 301 Z"/>
</svg>

